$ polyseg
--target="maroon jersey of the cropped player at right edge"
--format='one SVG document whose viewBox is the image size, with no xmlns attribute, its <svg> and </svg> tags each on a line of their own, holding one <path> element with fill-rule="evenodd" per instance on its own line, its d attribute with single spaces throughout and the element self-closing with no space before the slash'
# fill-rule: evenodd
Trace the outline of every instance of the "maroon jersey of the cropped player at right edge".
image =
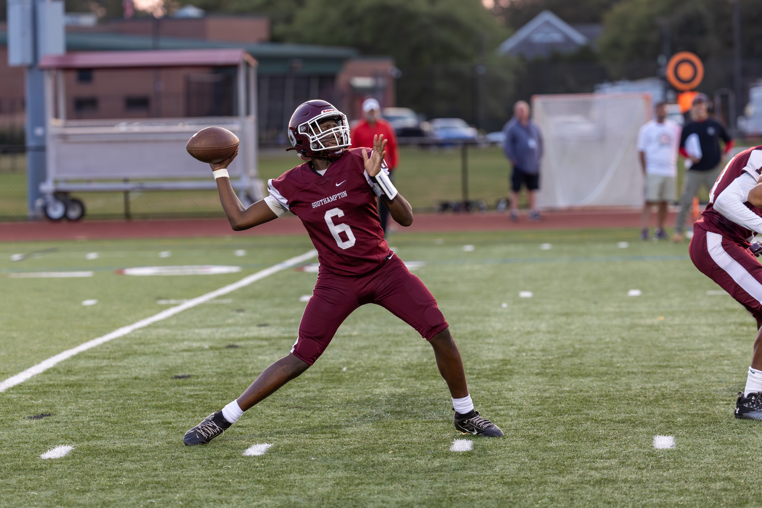
<svg viewBox="0 0 762 508">
<path fill-rule="evenodd" d="M 714 202 L 716 197 L 722 194 L 722 191 L 725 190 L 725 188 L 728 187 L 728 185 L 730 185 L 736 178 L 741 177 L 744 173 L 751 174 L 751 176 L 755 179 L 759 178 L 760 172 L 762 172 L 762 160 L 760 160 L 759 156 L 760 149 L 762 149 L 762 146 L 754 146 L 750 149 L 746 149 L 732 158 L 730 162 L 728 162 L 728 165 L 726 165 L 725 169 L 722 170 L 722 173 L 717 178 L 714 187 L 712 187 L 712 190 L 709 192 L 709 204 L 701 213 L 702 217 L 698 221 L 700 228 L 706 229 L 706 231 L 718 233 L 719 235 L 722 235 L 725 238 L 728 238 L 729 240 L 735 241 L 738 244 L 742 244 L 746 247 L 749 246 L 749 240 L 754 238 L 756 233 L 762 233 L 752 232 L 750 229 L 744 228 L 744 226 L 733 222 L 732 220 L 723 216 L 722 213 L 714 209 Z M 757 152 L 754 157 L 752 157 L 752 152 L 755 150 Z M 757 208 L 757 206 L 753 206 L 748 202 L 744 203 L 744 205 L 752 212 L 757 214 L 757 216 L 762 217 L 762 209 Z"/>
</svg>

